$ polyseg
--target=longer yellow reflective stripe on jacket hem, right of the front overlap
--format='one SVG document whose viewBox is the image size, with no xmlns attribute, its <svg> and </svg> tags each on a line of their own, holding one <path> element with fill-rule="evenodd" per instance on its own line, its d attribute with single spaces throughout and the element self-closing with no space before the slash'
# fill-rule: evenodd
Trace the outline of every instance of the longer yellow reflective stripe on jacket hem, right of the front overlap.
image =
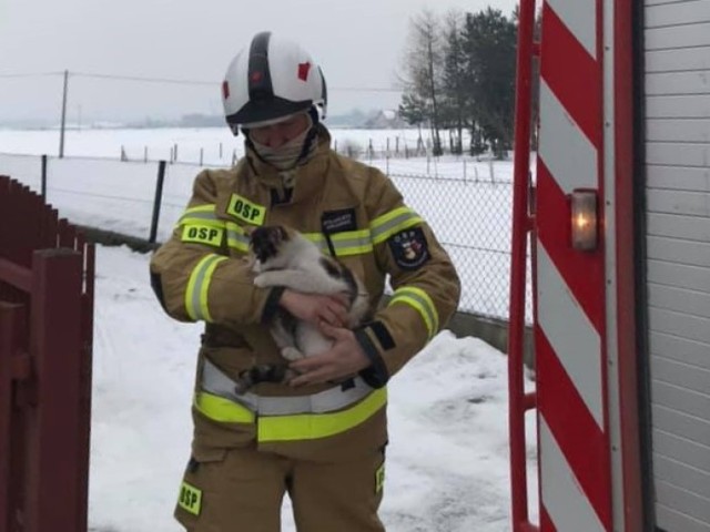
<svg viewBox="0 0 710 532">
<path fill-rule="evenodd" d="M 387 403 L 387 389 L 381 388 L 352 408 L 329 413 L 260 417 L 258 441 L 314 440 L 339 434 L 369 419 Z"/>
</svg>

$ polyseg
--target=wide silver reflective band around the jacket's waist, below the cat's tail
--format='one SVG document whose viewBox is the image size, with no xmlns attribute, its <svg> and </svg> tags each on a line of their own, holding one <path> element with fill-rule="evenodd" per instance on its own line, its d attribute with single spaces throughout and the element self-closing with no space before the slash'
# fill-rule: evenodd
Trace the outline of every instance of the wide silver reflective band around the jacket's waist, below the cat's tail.
<svg viewBox="0 0 710 532">
<path fill-rule="evenodd" d="M 296 397 L 263 397 L 246 392 L 237 395 L 234 381 L 206 358 L 202 368 L 202 389 L 242 405 L 260 416 L 293 416 L 297 413 L 325 413 L 341 410 L 367 397 L 373 388 L 361 377 L 355 377 L 355 386 L 342 390 L 339 386 Z"/>
</svg>

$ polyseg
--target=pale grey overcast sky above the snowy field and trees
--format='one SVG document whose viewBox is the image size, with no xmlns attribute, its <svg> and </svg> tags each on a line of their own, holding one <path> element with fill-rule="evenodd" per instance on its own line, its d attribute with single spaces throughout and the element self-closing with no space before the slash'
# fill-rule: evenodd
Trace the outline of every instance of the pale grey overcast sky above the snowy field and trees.
<svg viewBox="0 0 710 532">
<path fill-rule="evenodd" d="M 59 116 L 69 70 L 214 85 L 136 83 L 74 75 L 69 117 L 130 119 L 221 112 L 219 82 L 251 37 L 298 40 L 322 64 L 331 114 L 395 108 L 393 88 L 409 19 L 429 8 L 510 16 L 516 0 L 0 0 L 0 120 Z M 348 89 L 348 90 L 346 90 Z"/>
</svg>

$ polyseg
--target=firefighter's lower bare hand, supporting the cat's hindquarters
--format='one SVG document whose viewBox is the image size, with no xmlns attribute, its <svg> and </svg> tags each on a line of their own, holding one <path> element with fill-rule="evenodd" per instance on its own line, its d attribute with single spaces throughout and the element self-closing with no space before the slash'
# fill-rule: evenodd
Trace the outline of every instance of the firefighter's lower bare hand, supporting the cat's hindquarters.
<svg viewBox="0 0 710 532">
<path fill-rule="evenodd" d="M 355 339 L 355 332 L 342 327 L 333 327 L 322 323 L 321 332 L 333 338 L 335 344 L 321 355 L 302 358 L 291 364 L 298 377 L 291 380 L 291 386 L 320 385 L 352 377 L 371 365 L 367 355 Z"/>
</svg>

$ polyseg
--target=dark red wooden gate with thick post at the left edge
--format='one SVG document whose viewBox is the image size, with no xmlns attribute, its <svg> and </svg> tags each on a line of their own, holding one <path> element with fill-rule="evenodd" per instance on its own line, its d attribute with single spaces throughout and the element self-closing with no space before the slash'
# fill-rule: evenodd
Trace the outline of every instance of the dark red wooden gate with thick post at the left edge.
<svg viewBox="0 0 710 532">
<path fill-rule="evenodd" d="M 94 248 L 0 176 L 0 532 L 85 532 Z"/>
</svg>

